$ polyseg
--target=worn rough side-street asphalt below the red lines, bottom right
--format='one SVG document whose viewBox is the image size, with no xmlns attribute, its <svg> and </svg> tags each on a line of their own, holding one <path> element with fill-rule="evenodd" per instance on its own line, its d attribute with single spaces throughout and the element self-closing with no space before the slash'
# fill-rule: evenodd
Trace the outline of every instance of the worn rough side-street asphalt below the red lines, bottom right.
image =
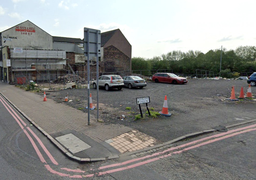
<svg viewBox="0 0 256 180">
<path fill-rule="evenodd" d="M 253 180 L 256 179 L 255 135 L 255 131 L 239 134 L 174 154 L 160 161 L 148 163 L 146 166 L 161 176 L 174 180 Z M 206 136 L 200 138 L 202 137 Z M 184 143 L 187 142 L 176 144 Z"/>
</svg>

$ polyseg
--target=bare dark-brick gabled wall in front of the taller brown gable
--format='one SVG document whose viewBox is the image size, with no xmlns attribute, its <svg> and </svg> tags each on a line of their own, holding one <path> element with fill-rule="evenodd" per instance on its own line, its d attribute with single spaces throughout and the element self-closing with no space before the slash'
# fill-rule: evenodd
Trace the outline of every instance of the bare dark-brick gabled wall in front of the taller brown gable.
<svg viewBox="0 0 256 180">
<path fill-rule="evenodd" d="M 104 71 L 118 72 L 130 70 L 130 58 L 114 46 L 104 48 Z"/>
</svg>

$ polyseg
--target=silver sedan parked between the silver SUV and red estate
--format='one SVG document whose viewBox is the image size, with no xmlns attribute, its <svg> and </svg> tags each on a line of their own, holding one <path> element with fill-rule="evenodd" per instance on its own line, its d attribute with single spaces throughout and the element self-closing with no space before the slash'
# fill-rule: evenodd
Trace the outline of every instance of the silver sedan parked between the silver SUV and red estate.
<svg viewBox="0 0 256 180">
<path fill-rule="evenodd" d="M 132 87 L 143 88 L 147 86 L 146 80 L 140 78 L 139 76 L 124 76 L 123 80 L 124 80 L 124 86 L 127 86 L 130 89 Z"/>
</svg>

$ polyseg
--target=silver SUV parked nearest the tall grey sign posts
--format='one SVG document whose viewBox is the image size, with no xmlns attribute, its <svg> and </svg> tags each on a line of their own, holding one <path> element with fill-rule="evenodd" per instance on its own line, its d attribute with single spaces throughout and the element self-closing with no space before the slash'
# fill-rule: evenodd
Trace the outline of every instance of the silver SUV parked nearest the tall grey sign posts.
<svg viewBox="0 0 256 180">
<path fill-rule="evenodd" d="M 120 75 L 103 75 L 99 77 L 99 87 L 104 87 L 106 91 L 117 88 L 121 90 L 124 85 L 124 80 Z M 96 82 L 92 84 L 93 88 L 96 89 Z"/>
</svg>

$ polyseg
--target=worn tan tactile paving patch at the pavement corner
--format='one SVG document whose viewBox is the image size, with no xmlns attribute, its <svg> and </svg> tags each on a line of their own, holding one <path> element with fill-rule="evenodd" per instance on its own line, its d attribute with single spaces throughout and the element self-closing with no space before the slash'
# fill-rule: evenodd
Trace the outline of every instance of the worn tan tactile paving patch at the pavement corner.
<svg viewBox="0 0 256 180">
<path fill-rule="evenodd" d="M 157 143 L 155 138 L 137 130 L 123 133 L 119 136 L 108 139 L 105 142 L 121 153 L 144 149 L 146 147 L 154 146 Z"/>
</svg>

